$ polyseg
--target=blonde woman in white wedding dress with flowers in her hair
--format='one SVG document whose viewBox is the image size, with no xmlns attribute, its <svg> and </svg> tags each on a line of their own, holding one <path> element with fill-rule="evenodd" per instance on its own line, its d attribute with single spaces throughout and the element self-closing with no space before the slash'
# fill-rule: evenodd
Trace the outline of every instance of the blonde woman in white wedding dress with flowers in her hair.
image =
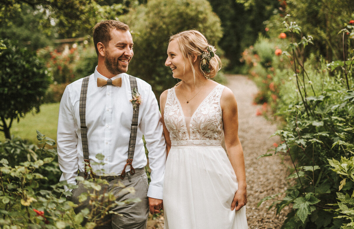
<svg viewBox="0 0 354 229">
<path fill-rule="evenodd" d="M 248 228 L 237 103 L 229 88 L 210 80 L 221 66 L 215 51 L 195 30 L 171 36 L 167 49 L 165 65 L 181 80 L 160 96 L 167 229 Z"/>
</svg>

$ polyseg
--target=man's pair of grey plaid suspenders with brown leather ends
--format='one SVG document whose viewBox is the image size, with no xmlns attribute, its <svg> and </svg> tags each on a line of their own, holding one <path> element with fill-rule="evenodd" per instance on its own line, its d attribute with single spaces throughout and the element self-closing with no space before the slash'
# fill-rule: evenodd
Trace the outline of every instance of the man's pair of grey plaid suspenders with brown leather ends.
<svg viewBox="0 0 354 229">
<path fill-rule="evenodd" d="M 89 166 L 91 170 L 90 159 L 89 159 L 89 147 L 87 144 L 87 127 L 86 127 L 86 97 L 87 97 L 87 87 L 89 84 L 89 78 L 90 76 L 86 76 L 82 80 L 81 93 L 80 93 L 80 105 L 79 105 L 81 142 L 82 142 L 82 151 L 84 153 L 84 162 L 85 162 L 85 171 L 84 171 L 85 178 L 87 177 L 86 166 Z M 138 91 L 138 85 L 135 77 L 129 75 L 129 80 L 130 80 L 131 93 L 133 94 L 134 89 Z M 131 133 L 129 139 L 128 159 L 120 175 L 121 179 L 124 179 L 125 177 L 125 169 L 127 165 L 130 165 L 130 173 L 135 174 L 135 169 L 132 166 L 132 162 L 133 162 L 133 156 L 135 150 L 136 135 L 138 130 L 138 117 L 139 117 L 139 104 L 137 104 L 135 109 L 133 108 L 133 119 L 132 119 Z M 92 172 L 92 170 L 90 172 L 90 176 L 92 178 L 95 178 L 95 174 Z"/>
</svg>

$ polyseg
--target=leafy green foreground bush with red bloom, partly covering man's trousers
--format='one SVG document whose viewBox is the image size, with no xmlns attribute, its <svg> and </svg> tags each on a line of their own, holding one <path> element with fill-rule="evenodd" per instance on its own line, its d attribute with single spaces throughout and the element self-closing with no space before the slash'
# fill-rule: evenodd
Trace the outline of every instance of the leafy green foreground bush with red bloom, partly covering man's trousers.
<svg viewBox="0 0 354 229">
<path fill-rule="evenodd" d="M 37 139 L 41 148 L 28 145 L 21 139 L 6 140 L 0 143 L 0 153 L 4 158 L 0 160 L 0 227 L 13 228 L 94 228 L 104 222 L 104 216 L 110 213 L 112 207 L 124 205 L 129 202 L 140 201 L 129 199 L 123 202 L 116 201 L 112 192 L 100 192 L 102 184 L 107 181 L 101 179 L 84 180 L 76 179 L 91 188 L 92 193 L 82 193 L 79 202 L 90 201 L 91 208 L 81 210 L 77 215 L 73 211 L 75 205 L 65 195 L 72 193 L 64 191 L 63 186 L 77 188 L 78 186 L 67 182 L 56 182 L 52 185 L 47 176 L 43 174 L 59 174 L 58 164 L 53 164 L 56 158 L 55 149 L 47 149 L 45 146 L 54 146 L 55 141 L 37 131 Z M 13 156 L 11 157 L 10 154 Z M 103 155 L 98 155 L 103 159 Z M 58 177 L 56 177 L 58 179 Z M 124 188 L 121 192 L 135 192 L 131 188 Z M 89 223 L 81 226 L 84 218 Z"/>
</svg>

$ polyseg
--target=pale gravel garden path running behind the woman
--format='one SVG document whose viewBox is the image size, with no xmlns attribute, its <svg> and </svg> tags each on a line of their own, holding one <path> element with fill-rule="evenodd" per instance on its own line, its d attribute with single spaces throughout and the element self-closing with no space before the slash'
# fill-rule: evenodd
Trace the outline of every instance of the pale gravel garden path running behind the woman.
<svg viewBox="0 0 354 229">
<path fill-rule="evenodd" d="M 239 137 L 245 154 L 247 196 L 247 221 L 250 229 L 280 228 L 285 220 L 287 208 L 280 216 L 275 210 L 267 211 L 272 201 L 263 202 L 257 208 L 258 202 L 268 195 L 283 193 L 287 187 L 287 166 L 289 162 L 280 156 L 264 157 L 259 155 L 274 148 L 273 143 L 279 143 L 278 136 L 269 138 L 276 130 L 276 125 L 263 116 L 256 116 L 259 105 L 253 105 L 253 95 L 257 93 L 256 85 L 246 76 L 228 75 L 228 87 L 235 94 L 239 112 Z M 217 217 L 217 213 L 216 213 Z M 182 219 L 183 220 L 183 219 Z M 163 216 L 148 221 L 148 229 L 161 229 Z"/>
</svg>

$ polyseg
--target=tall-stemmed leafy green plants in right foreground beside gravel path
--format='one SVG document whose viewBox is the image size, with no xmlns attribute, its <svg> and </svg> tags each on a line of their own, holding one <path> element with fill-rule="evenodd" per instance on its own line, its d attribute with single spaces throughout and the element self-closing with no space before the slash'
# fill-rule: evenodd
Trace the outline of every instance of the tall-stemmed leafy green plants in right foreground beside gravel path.
<svg viewBox="0 0 354 229">
<path fill-rule="evenodd" d="M 287 188 L 284 198 L 279 199 L 279 194 L 267 196 L 258 205 L 273 200 L 269 208 L 275 207 L 278 214 L 285 206 L 292 205 L 283 228 L 339 228 L 346 219 L 334 218 L 339 210 L 333 203 L 339 198 L 336 187 L 341 183 L 327 158 L 354 153 L 354 92 L 348 90 L 353 86 L 350 80 L 329 76 L 326 68 L 307 70 L 304 53 L 312 37 L 303 36 L 301 27 L 289 21 L 290 15 L 285 19 L 284 32 L 290 35 L 290 44 L 282 54 L 289 59 L 294 72 L 298 100 L 290 102 L 282 114 L 287 125 L 274 134 L 283 140 L 274 154 L 290 156 L 293 168 L 288 178 L 295 178 L 295 184 Z M 344 75 L 349 75 L 351 65 L 344 63 L 343 66 L 348 73 Z M 310 76 L 321 78 L 322 83 L 314 85 Z M 260 157 L 269 155 L 273 153 Z M 343 184 L 342 190 L 352 189 L 353 184 L 352 181 Z"/>
</svg>

